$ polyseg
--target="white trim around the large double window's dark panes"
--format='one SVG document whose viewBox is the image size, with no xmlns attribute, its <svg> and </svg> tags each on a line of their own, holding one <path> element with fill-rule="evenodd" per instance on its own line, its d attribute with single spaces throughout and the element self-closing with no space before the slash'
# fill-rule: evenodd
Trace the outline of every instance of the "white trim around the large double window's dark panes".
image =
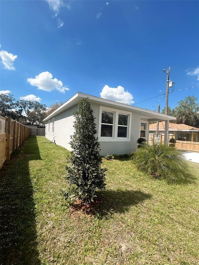
<svg viewBox="0 0 199 265">
<path fill-rule="evenodd" d="M 102 137 L 101 136 L 101 121 L 102 121 L 102 111 L 113 112 L 113 132 L 112 137 Z M 118 137 L 118 115 L 124 114 L 128 115 L 128 125 L 127 125 L 127 137 Z M 131 120 L 132 112 L 123 111 L 119 109 L 99 106 L 99 125 L 98 125 L 98 138 L 99 142 L 130 142 L 131 140 Z"/>
</svg>

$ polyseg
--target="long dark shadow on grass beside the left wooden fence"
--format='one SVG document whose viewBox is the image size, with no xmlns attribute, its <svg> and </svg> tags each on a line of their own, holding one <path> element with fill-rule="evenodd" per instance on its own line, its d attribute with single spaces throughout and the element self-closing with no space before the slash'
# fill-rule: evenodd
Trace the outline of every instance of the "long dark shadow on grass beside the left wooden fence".
<svg viewBox="0 0 199 265">
<path fill-rule="evenodd" d="M 30 136 L 1 170 L 0 264 L 40 264 L 29 172 L 29 161 L 39 159 L 36 136 Z"/>
</svg>

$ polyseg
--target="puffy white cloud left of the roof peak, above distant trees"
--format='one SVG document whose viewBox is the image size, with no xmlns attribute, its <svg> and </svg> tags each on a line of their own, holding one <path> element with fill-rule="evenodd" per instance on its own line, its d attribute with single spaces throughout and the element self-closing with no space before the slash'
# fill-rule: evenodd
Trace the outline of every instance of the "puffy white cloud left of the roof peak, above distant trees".
<svg viewBox="0 0 199 265">
<path fill-rule="evenodd" d="M 36 75 L 35 78 L 28 78 L 27 82 L 30 83 L 30 85 L 37 86 L 38 89 L 45 91 L 57 89 L 59 92 L 65 93 L 65 90 L 69 90 L 69 88 L 63 86 L 62 81 L 57 78 L 53 79 L 53 75 L 47 71 Z"/>
</svg>

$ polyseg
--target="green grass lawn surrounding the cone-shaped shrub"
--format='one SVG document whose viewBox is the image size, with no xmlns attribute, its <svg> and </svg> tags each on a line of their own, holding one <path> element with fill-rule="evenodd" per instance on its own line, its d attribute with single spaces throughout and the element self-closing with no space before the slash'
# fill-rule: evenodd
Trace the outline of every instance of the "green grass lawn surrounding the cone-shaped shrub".
<svg viewBox="0 0 199 265">
<path fill-rule="evenodd" d="M 199 164 L 187 162 L 189 183 L 168 185 L 104 161 L 107 188 L 88 215 L 62 195 L 67 154 L 31 136 L 5 163 L 0 264 L 199 264 Z"/>
</svg>

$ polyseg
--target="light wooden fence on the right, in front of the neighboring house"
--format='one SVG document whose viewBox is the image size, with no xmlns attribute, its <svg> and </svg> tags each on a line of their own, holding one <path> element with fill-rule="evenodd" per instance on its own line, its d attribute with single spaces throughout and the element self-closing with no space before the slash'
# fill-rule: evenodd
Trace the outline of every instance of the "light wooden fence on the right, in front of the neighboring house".
<svg viewBox="0 0 199 265">
<path fill-rule="evenodd" d="M 173 137 L 174 137 L 173 134 L 169 134 L 169 140 Z M 152 145 L 153 141 L 154 141 L 154 134 L 150 133 L 149 134 L 149 145 Z M 164 134 L 160 135 L 160 142 L 164 143 Z M 199 152 L 199 142 L 176 140 L 175 147 L 181 150 Z"/>
</svg>

